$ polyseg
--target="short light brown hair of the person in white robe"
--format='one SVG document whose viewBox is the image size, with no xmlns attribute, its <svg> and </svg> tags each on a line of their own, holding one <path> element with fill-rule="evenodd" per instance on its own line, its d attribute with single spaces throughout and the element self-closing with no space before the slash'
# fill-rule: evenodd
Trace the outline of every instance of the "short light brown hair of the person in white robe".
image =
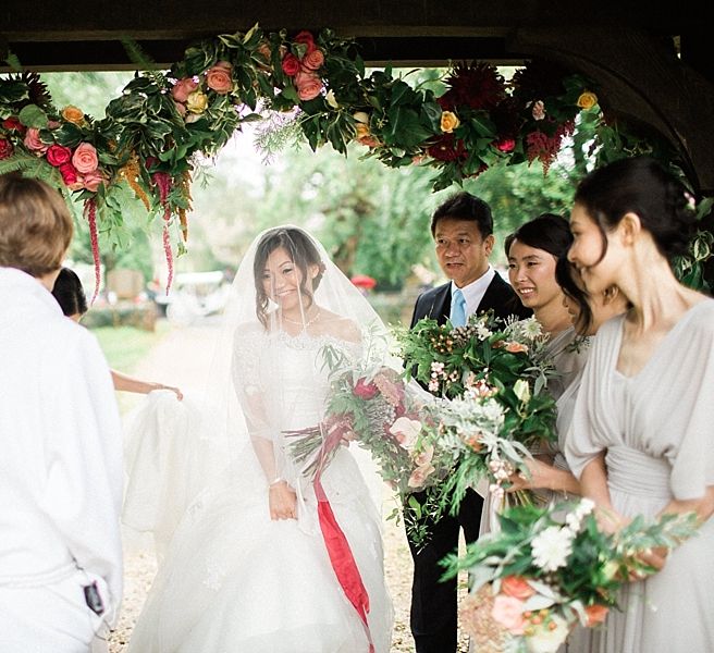
<svg viewBox="0 0 714 653">
<path fill-rule="evenodd" d="M 73 231 L 59 190 L 16 173 L 0 175 L 0 266 L 37 278 L 54 272 Z"/>
</svg>

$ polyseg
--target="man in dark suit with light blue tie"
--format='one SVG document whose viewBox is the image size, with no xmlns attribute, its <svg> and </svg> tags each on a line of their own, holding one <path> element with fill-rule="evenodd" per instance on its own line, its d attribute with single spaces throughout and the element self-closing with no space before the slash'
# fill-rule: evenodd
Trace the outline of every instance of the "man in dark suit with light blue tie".
<svg viewBox="0 0 714 653">
<path fill-rule="evenodd" d="M 411 326 L 422 318 L 441 324 L 451 319 L 460 325 L 469 315 L 489 309 L 504 319 L 532 315 L 489 264 L 495 238 L 487 202 L 469 193 L 457 193 L 434 211 L 431 235 L 439 266 L 451 281 L 417 298 Z M 411 633 L 417 653 L 456 651 L 456 580 L 440 581 L 443 568 L 439 560 L 456 551 L 459 528 L 467 543 L 478 538 L 482 505 L 481 496 L 468 490 L 457 516 L 445 515 L 429 523 L 430 538 L 420 551 L 409 543 L 414 558 Z"/>
</svg>

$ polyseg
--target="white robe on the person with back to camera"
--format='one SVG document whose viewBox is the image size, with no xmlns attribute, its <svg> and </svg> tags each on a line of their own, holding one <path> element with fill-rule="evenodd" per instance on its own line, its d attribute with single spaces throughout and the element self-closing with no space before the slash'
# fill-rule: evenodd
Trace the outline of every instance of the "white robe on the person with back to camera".
<svg viewBox="0 0 714 653">
<path fill-rule="evenodd" d="M 33 276 L 0 268 L 0 590 L 84 570 L 99 580 L 111 623 L 123 478 L 107 361 Z"/>
</svg>

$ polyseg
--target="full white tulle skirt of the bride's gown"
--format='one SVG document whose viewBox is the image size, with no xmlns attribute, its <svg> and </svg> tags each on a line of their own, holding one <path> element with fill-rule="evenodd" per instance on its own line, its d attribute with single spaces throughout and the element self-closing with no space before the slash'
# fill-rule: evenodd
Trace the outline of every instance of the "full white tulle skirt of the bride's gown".
<svg viewBox="0 0 714 653">
<path fill-rule="evenodd" d="M 332 569 L 311 491 L 270 519 L 259 472 L 229 468 L 192 503 L 160 566 L 131 653 L 365 653 L 366 628 Z M 379 515 L 348 451 L 323 476 L 369 593 L 374 651 L 390 650 Z"/>
</svg>

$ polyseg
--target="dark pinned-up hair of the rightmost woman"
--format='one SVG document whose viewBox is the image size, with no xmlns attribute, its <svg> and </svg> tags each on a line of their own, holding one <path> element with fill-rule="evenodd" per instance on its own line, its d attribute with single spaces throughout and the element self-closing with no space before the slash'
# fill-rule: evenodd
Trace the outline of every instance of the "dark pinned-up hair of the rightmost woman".
<svg viewBox="0 0 714 653">
<path fill-rule="evenodd" d="M 600 260 L 607 251 L 605 234 L 616 229 L 626 213 L 639 217 L 668 260 L 687 252 L 694 232 L 694 212 L 686 188 L 649 157 L 620 159 L 593 170 L 580 182 L 575 204 L 586 209 L 602 232 Z"/>
</svg>

